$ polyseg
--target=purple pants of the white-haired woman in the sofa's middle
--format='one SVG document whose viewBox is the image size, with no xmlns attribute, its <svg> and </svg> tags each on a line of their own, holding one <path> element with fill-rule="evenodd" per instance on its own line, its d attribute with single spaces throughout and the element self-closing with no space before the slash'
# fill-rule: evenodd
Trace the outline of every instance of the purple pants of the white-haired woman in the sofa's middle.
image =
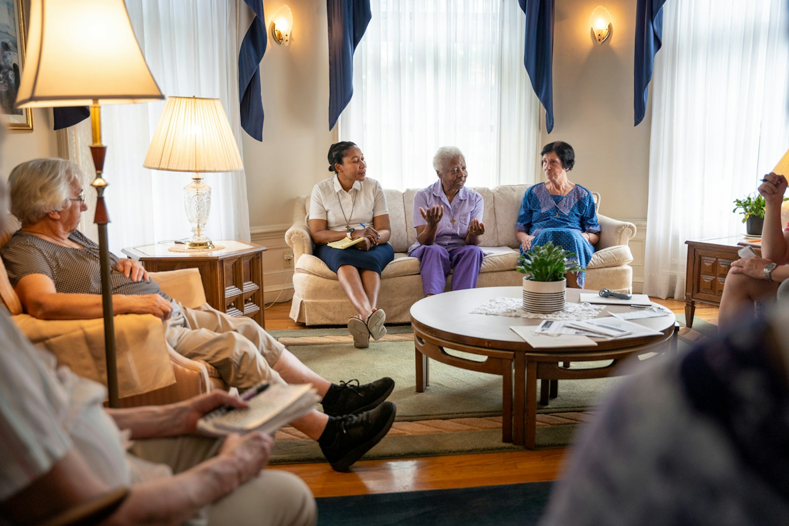
<svg viewBox="0 0 789 526">
<path fill-rule="evenodd" d="M 444 248 L 439 244 L 422 244 L 409 256 L 419 258 L 422 290 L 428 294 L 443 293 L 447 276 L 452 270 L 452 290 L 477 286 L 484 253 L 476 244 L 458 244 Z"/>
</svg>

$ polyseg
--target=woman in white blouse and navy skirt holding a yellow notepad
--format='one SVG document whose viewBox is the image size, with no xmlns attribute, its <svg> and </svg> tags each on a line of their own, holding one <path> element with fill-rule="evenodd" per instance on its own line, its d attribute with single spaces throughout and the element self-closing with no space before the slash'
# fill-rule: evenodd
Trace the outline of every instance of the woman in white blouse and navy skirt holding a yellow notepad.
<svg viewBox="0 0 789 526">
<path fill-rule="evenodd" d="M 378 181 L 367 177 L 365 155 L 349 141 L 332 144 L 329 171 L 335 175 L 312 188 L 309 233 L 314 254 L 337 273 L 358 316 L 348 320 L 353 345 L 368 347 L 369 339 L 387 334 L 386 313 L 376 308 L 383 267 L 394 259 L 388 243 L 391 235 L 389 210 Z M 344 250 L 328 243 L 362 238 Z"/>
</svg>

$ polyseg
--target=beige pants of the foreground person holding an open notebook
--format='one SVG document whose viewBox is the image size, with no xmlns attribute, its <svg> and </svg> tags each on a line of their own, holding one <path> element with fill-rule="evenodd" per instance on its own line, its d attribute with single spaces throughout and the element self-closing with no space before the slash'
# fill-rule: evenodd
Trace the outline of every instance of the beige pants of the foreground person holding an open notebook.
<svg viewBox="0 0 789 526">
<path fill-rule="evenodd" d="M 196 436 L 151 438 L 136 441 L 131 453 L 146 461 L 166 464 L 179 473 L 213 457 L 221 443 L 214 438 Z M 315 498 L 304 481 L 292 473 L 267 468 L 209 505 L 201 517 L 189 524 L 308 526 L 316 524 L 317 518 Z"/>
</svg>

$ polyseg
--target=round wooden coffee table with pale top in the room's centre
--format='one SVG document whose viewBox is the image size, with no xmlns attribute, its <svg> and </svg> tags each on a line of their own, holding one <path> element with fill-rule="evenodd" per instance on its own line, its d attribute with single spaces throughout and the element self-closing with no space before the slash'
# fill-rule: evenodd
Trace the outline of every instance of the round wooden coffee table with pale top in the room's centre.
<svg viewBox="0 0 789 526">
<path fill-rule="evenodd" d="M 580 293 L 596 290 L 567 289 L 567 301 L 578 302 Z M 615 367 L 629 356 L 663 353 L 676 349 L 673 314 L 634 320 L 660 335 L 597 341 L 596 347 L 533 349 L 510 326 L 536 326 L 539 318 L 471 314 L 471 311 L 496 297 L 522 297 L 521 287 L 483 287 L 436 294 L 411 307 L 416 349 L 417 392 L 428 382 L 428 358 L 471 371 L 502 376 L 502 440 L 519 446 L 534 447 L 537 418 L 537 380 L 593 379 L 616 375 Z M 631 311 L 628 305 L 606 305 L 608 312 Z M 485 356 L 468 360 L 444 349 Z M 605 367 L 570 369 L 561 364 L 613 360 Z M 514 380 L 514 381 L 513 381 Z M 514 386 L 513 386 L 514 385 Z M 545 384 L 546 386 L 548 384 Z M 553 386 L 552 386 L 553 387 Z M 545 392 L 545 391 L 544 391 Z"/>
</svg>

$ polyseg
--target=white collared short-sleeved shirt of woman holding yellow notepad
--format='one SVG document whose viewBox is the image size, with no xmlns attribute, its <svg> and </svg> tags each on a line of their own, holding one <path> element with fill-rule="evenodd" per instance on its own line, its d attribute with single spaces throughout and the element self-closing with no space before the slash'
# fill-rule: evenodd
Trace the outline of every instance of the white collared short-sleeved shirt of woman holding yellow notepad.
<svg viewBox="0 0 789 526">
<path fill-rule="evenodd" d="M 361 229 L 362 223 L 372 226 L 372 218 L 388 214 L 383 189 L 375 179 L 365 177 L 365 181 L 353 181 L 346 192 L 335 175 L 312 188 L 308 219 L 323 219 L 329 230 L 345 232 L 347 226 Z"/>
</svg>

